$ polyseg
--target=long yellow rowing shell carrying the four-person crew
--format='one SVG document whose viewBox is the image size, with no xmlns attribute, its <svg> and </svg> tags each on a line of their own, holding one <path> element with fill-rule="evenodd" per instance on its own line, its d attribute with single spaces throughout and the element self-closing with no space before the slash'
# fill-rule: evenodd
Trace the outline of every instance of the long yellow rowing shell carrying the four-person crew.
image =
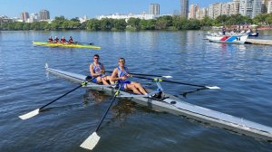
<svg viewBox="0 0 272 152">
<path fill-rule="evenodd" d="M 100 46 L 82 43 L 47 43 L 47 42 L 33 42 L 34 45 L 38 46 L 49 46 L 49 47 L 71 47 L 71 48 L 86 48 L 86 49 L 101 49 Z"/>
</svg>

